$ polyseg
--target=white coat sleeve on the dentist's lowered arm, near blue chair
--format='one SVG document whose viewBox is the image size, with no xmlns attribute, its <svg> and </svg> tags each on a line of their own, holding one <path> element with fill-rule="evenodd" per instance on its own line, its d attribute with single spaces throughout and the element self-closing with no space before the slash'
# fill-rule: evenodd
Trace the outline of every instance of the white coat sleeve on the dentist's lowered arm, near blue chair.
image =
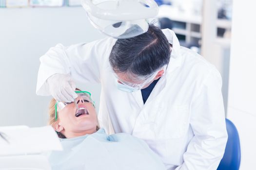
<svg viewBox="0 0 256 170">
<path fill-rule="evenodd" d="M 221 85 L 221 76 L 213 69 L 198 88 L 191 103 L 195 136 L 183 154 L 184 163 L 176 170 L 217 170 L 227 142 Z"/>
</svg>

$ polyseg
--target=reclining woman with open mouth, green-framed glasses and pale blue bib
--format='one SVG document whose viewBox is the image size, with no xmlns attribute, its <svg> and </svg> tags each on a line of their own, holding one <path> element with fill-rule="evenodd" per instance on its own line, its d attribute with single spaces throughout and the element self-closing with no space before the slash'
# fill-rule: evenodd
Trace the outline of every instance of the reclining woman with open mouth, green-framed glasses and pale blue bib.
<svg viewBox="0 0 256 170">
<path fill-rule="evenodd" d="M 49 108 L 49 124 L 56 130 L 63 151 L 49 155 L 52 170 L 164 170 L 160 158 L 134 136 L 108 136 L 98 128 L 89 92 L 76 91 L 74 102 L 56 102 Z"/>
</svg>

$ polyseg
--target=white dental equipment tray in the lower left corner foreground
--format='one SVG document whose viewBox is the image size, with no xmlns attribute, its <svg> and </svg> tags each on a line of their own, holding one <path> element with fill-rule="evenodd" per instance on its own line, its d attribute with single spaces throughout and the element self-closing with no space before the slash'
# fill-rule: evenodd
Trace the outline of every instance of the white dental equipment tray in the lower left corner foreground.
<svg viewBox="0 0 256 170">
<path fill-rule="evenodd" d="M 47 154 L 61 150 L 50 126 L 0 127 L 0 170 L 51 170 Z"/>
</svg>

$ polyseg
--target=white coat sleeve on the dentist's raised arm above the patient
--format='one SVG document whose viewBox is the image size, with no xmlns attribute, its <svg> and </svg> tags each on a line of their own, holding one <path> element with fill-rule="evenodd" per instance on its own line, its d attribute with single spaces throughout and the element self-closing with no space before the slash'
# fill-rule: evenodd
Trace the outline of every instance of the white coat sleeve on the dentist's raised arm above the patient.
<svg viewBox="0 0 256 170">
<path fill-rule="evenodd" d="M 40 57 L 36 93 L 50 95 L 46 80 L 53 74 L 70 74 L 80 83 L 100 83 L 102 64 L 108 60 L 115 39 L 104 38 L 90 43 L 64 47 L 58 44 Z"/>
</svg>

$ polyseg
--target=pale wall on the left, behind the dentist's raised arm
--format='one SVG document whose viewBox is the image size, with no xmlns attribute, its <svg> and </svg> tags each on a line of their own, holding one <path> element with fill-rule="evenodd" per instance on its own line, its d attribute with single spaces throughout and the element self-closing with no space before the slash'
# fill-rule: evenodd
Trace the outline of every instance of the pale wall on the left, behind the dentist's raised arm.
<svg viewBox="0 0 256 170">
<path fill-rule="evenodd" d="M 36 95 L 39 57 L 57 43 L 66 46 L 104 37 L 81 7 L 0 8 L 0 126 L 42 126 L 50 97 Z M 100 85 L 92 91 L 96 105 Z"/>
</svg>

